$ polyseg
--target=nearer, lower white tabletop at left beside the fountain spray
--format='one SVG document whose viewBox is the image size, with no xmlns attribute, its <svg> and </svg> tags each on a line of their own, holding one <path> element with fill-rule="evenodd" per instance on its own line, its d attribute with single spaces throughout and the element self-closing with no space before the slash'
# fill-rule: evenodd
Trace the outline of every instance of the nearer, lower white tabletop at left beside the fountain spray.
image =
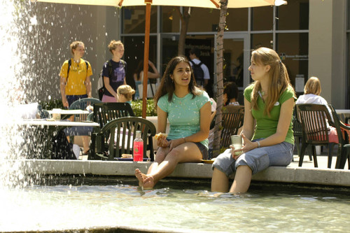
<svg viewBox="0 0 350 233">
<path fill-rule="evenodd" d="M 42 126 L 90 126 L 99 127 L 97 122 L 75 122 L 69 120 L 45 120 L 45 119 L 25 119 L 18 121 L 18 125 L 42 125 Z"/>
</svg>

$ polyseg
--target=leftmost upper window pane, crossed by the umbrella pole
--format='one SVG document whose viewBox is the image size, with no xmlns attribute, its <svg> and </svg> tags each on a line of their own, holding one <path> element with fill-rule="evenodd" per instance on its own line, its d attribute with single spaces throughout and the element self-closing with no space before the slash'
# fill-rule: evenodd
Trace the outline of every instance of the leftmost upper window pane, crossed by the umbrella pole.
<svg viewBox="0 0 350 233">
<path fill-rule="evenodd" d="M 123 34 L 145 33 L 146 6 L 123 8 Z M 150 32 L 157 32 L 157 7 L 151 7 Z"/>
</svg>

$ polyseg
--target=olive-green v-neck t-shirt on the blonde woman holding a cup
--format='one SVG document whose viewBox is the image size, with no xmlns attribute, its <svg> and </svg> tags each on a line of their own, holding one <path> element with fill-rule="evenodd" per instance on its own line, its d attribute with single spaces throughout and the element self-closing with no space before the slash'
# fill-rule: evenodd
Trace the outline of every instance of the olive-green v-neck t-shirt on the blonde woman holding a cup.
<svg viewBox="0 0 350 233">
<path fill-rule="evenodd" d="M 253 87 L 254 85 L 250 85 L 244 90 L 244 98 L 249 102 L 251 101 L 251 93 L 253 92 Z M 281 94 L 279 100 L 276 102 L 276 104 L 274 104 L 274 107 L 272 108 L 269 116 L 264 114 L 265 103 L 264 101 L 262 101 L 261 97 L 258 97 L 258 110 L 255 110 L 253 108 L 251 110 L 253 118 L 255 118 L 256 120 L 256 127 L 253 139 L 266 139 L 268 136 L 271 136 L 272 134 L 276 133 L 277 125 L 279 124 L 279 113 L 281 112 L 281 105 L 284 103 L 284 101 L 290 98 L 293 98 L 294 101 L 296 100 L 292 87 L 288 87 Z M 246 111 L 248 111 L 248 109 L 246 109 Z M 291 115 L 288 133 L 284 141 L 294 144 L 293 123 Z"/>
</svg>

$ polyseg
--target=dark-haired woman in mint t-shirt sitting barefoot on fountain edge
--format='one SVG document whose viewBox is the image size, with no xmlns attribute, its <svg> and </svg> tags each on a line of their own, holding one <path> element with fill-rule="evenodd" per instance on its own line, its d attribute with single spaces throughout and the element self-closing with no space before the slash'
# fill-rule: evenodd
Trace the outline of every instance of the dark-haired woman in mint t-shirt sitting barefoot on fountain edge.
<svg viewBox="0 0 350 233">
<path fill-rule="evenodd" d="M 172 174 L 179 162 L 201 162 L 208 158 L 211 103 L 209 95 L 196 87 L 190 62 L 174 57 L 167 64 L 155 94 L 158 112 L 157 154 L 147 174 L 135 170 L 139 186 L 151 189 Z M 170 131 L 164 135 L 169 120 Z"/>
</svg>

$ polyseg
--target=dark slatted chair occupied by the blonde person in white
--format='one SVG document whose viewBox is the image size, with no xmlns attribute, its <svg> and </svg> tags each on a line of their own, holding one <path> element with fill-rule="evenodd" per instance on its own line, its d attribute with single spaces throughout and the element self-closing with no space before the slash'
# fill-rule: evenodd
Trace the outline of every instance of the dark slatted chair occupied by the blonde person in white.
<svg viewBox="0 0 350 233">
<path fill-rule="evenodd" d="M 330 168 L 332 164 L 332 149 L 335 143 L 330 143 L 328 137 L 328 126 L 332 124 L 332 118 L 327 106 L 321 104 L 297 104 L 296 108 L 297 121 L 302 124 L 302 148 L 300 150 L 299 167 L 302 167 L 307 146 L 312 146 L 314 167 L 318 167 L 315 146 L 328 146 L 328 168 Z M 339 132 L 341 132 L 340 129 Z M 340 142 L 341 135 L 339 133 L 338 138 Z"/>
</svg>

